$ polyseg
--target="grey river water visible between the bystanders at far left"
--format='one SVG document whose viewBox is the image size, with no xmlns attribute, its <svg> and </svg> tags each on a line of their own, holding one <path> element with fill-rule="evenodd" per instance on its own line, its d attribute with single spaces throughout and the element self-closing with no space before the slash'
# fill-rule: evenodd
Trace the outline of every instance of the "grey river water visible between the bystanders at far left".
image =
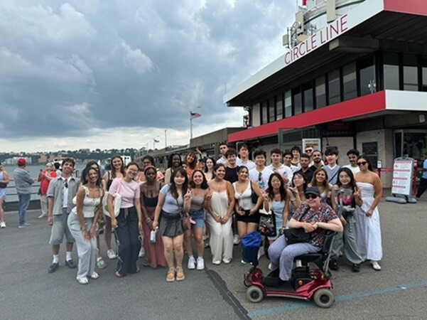
<svg viewBox="0 0 427 320">
<path fill-rule="evenodd" d="M 83 169 L 85 169 L 85 164 L 76 164 L 75 171 L 72 173 L 73 176 L 77 174 L 80 176 Z M 3 166 L 4 170 L 7 171 L 9 177 L 13 179 L 13 170 L 16 169 L 16 166 Z M 31 164 L 26 166 L 26 169 L 30 172 L 33 179 L 36 181 L 31 188 L 31 200 L 38 200 L 40 196 L 38 196 L 38 188 L 40 188 L 40 182 L 37 181 L 38 173 L 40 169 L 45 169 L 45 164 Z M 7 202 L 15 202 L 18 201 L 18 195 L 16 194 L 15 181 L 11 180 L 6 188 L 6 201 Z"/>
</svg>

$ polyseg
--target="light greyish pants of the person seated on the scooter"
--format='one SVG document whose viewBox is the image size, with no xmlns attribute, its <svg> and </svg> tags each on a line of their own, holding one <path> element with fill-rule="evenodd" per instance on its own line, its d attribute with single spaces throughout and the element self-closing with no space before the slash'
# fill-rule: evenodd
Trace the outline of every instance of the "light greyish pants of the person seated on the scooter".
<svg viewBox="0 0 427 320">
<path fill-rule="evenodd" d="M 308 242 L 288 245 L 284 235 L 279 236 L 269 247 L 271 270 L 279 268 L 279 277 L 283 281 L 291 279 L 293 260 L 298 255 L 319 252 L 320 247 L 315 247 Z"/>
</svg>

